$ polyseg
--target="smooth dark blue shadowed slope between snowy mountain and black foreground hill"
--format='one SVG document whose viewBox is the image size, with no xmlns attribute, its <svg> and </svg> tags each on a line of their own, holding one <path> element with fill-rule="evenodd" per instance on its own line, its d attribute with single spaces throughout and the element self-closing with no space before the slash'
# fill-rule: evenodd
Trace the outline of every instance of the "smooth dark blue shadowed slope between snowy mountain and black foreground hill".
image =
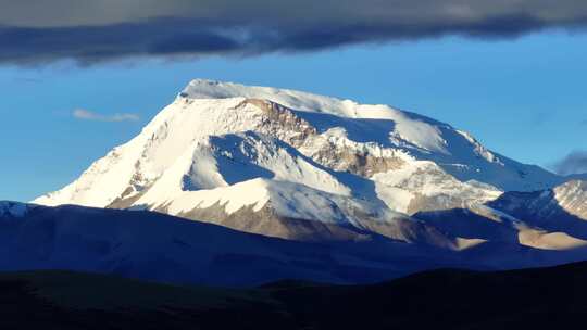
<svg viewBox="0 0 587 330">
<path fill-rule="evenodd" d="M 0 270 L 70 269 L 254 285 L 284 278 L 372 282 L 463 265 L 451 251 L 376 234 L 296 242 L 153 212 L 4 204 L 10 212 L 0 215 Z"/>
</svg>

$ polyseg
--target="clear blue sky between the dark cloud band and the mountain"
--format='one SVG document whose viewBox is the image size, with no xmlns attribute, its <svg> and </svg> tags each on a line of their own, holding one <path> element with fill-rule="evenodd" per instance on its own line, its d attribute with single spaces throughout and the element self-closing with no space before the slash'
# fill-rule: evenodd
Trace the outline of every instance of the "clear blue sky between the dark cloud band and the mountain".
<svg viewBox="0 0 587 330">
<path fill-rule="evenodd" d="M 0 200 L 61 188 L 140 128 L 193 78 L 387 103 L 471 131 L 515 160 L 550 166 L 584 150 L 587 35 L 445 37 L 322 52 L 0 66 Z M 83 120 L 76 109 L 139 120 Z"/>
</svg>

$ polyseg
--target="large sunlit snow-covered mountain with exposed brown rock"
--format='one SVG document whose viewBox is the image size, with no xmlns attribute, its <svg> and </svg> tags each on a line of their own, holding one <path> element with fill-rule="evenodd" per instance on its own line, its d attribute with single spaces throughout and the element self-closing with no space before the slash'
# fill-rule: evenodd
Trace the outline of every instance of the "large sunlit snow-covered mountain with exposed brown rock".
<svg viewBox="0 0 587 330">
<path fill-rule="evenodd" d="M 462 250 L 485 236 L 419 215 L 495 215 L 486 204 L 504 191 L 564 180 L 387 105 L 193 80 L 136 138 L 34 202 L 151 210 L 294 240 L 376 233 Z"/>
</svg>

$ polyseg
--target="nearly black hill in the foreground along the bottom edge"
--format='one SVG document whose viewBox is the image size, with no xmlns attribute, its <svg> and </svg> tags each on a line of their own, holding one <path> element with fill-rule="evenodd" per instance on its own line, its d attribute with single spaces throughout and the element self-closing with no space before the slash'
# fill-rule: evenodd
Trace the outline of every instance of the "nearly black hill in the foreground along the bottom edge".
<svg viewBox="0 0 587 330">
<path fill-rule="evenodd" d="M 373 285 L 277 282 L 250 290 L 116 277 L 0 275 L 2 329 L 570 329 L 587 317 L 587 263 L 436 270 Z"/>
</svg>

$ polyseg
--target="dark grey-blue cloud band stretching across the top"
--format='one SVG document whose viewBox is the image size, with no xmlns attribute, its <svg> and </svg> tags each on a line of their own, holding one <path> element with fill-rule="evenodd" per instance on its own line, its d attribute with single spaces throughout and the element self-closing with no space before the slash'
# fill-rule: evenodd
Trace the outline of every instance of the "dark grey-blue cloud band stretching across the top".
<svg viewBox="0 0 587 330">
<path fill-rule="evenodd" d="M 509 38 L 587 23 L 587 3 L 572 0 L 0 0 L 0 63 L 17 64 Z"/>
</svg>

